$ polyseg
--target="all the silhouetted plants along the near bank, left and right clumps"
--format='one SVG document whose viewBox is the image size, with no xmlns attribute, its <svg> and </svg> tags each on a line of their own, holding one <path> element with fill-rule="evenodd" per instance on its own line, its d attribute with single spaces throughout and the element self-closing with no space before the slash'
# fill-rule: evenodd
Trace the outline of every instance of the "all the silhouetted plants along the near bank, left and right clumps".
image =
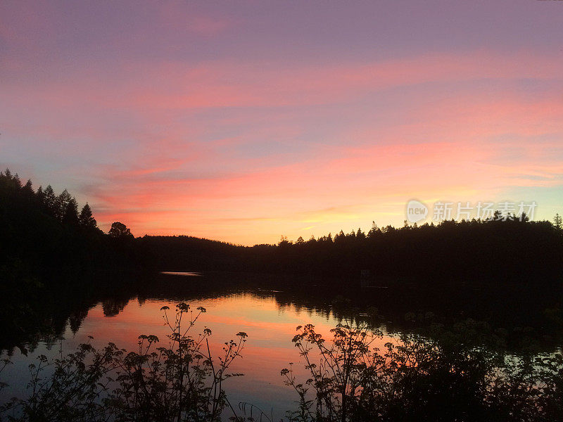
<svg viewBox="0 0 563 422">
<path fill-rule="evenodd" d="M 139 349 L 90 344 L 58 359 L 40 356 L 30 366 L 30 397 L 0 407 L 6 421 L 272 421 L 252 404 L 232 404 L 225 393 L 229 370 L 246 333 L 213 357 L 205 328 L 194 324 L 205 309 L 163 307 L 167 341 L 140 335 Z M 472 320 L 431 336 L 393 335 L 383 347 L 379 330 L 343 320 L 324 339 L 315 327 L 293 338 L 310 378 L 282 369 L 296 392 L 291 422 L 346 421 L 561 421 L 563 357 L 532 347 L 503 352 L 502 333 Z M 288 339 L 289 340 L 289 339 Z M 288 359 L 292 359 L 288 357 Z M 4 365 L 9 364 L 8 361 Z M 1 368 L 1 366 L 0 366 Z M 2 385 L 0 385 L 0 388 Z M 253 414 L 253 417 L 250 416 Z"/>
</svg>

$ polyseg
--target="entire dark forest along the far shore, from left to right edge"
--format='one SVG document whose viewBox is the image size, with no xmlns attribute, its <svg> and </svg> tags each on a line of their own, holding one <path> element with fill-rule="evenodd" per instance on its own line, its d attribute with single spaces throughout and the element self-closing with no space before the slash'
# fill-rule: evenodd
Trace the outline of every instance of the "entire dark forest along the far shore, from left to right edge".
<svg viewBox="0 0 563 422">
<path fill-rule="evenodd" d="M 530 221 L 526 215 L 495 213 L 489 220 L 384 226 L 340 231 L 332 236 L 281 237 L 251 247 L 193 236 L 134 238 L 114 222 L 104 234 L 88 204 L 51 186 L 36 190 L 17 174 L 0 174 L 0 230 L 4 277 L 61 278 L 61 271 L 247 271 L 288 274 L 311 283 L 559 283 L 563 275 L 561 217 Z M 11 274 L 11 275 L 10 275 Z M 559 284 L 557 284 L 559 285 Z"/>
</svg>

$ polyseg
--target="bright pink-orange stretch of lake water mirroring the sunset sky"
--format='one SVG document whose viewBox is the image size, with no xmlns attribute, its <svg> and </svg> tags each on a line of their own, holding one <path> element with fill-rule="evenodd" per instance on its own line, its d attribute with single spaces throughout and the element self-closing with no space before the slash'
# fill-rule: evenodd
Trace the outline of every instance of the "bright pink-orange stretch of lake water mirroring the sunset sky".
<svg viewBox="0 0 563 422">
<path fill-rule="evenodd" d="M 186 275 L 186 283 L 195 276 Z M 61 352 L 72 352 L 75 347 L 94 337 L 93 344 L 101 347 L 112 341 L 118 347 L 137 350 L 137 338 L 140 334 L 155 334 L 161 342 L 166 342 L 169 328 L 163 326 L 163 312 L 160 308 L 167 305 L 172 311 L 178 302 L 185 301 L 194 312 L 196 307 L 203 306 L 207 312 L 200 317 L 194 333 L 207 326 L 212 334 L 212 354 L 219 354 L 222 343 L 235 339 L 236 333 L 244 331 L 248 334 L 243 357 L 234 363 L 232 372 L 243 373 L 244 376 L 230 378 L 224 385 L 229 401 L 236 406 L 239 402 L 252 403 L 267 411 L 274 417 L 283 416 L 284 411 L 294 407 L 297 398 L 291 388 L 284 385 L 279 374 L 280 370 L 293 362 L 294 369 L 305 381 L 306 373 L 298 350 L 291 339 L 296 326 L 314 324 L 318 331 L 329 335 L 338 321 L 334 314 L 313 307 L 283 305 L 274 297 L 275 290 L 255 290 L 225 293 L 213 298 L 132 298 L 122 302 L 99 302 L 87 311 L 80 328 L 73 332 L 67 324 L 61 342 L 47 345 L 39 342 L 37 348 L 28 353 L 27 357 L 17 348 L 8 366 L 1 374 L 10 388 L 1 392 L 2 402 L 14 395 L 25 395 L 25 383 L 29 378 L 27 365 L 39 354 L 55 357 Z M 170 311 L 169 311 L 170 312 Z M 76 327 L 75 327 L 76 329 Z M 214 352 L 215 351 L 215 352 Z"/>
</svg>

